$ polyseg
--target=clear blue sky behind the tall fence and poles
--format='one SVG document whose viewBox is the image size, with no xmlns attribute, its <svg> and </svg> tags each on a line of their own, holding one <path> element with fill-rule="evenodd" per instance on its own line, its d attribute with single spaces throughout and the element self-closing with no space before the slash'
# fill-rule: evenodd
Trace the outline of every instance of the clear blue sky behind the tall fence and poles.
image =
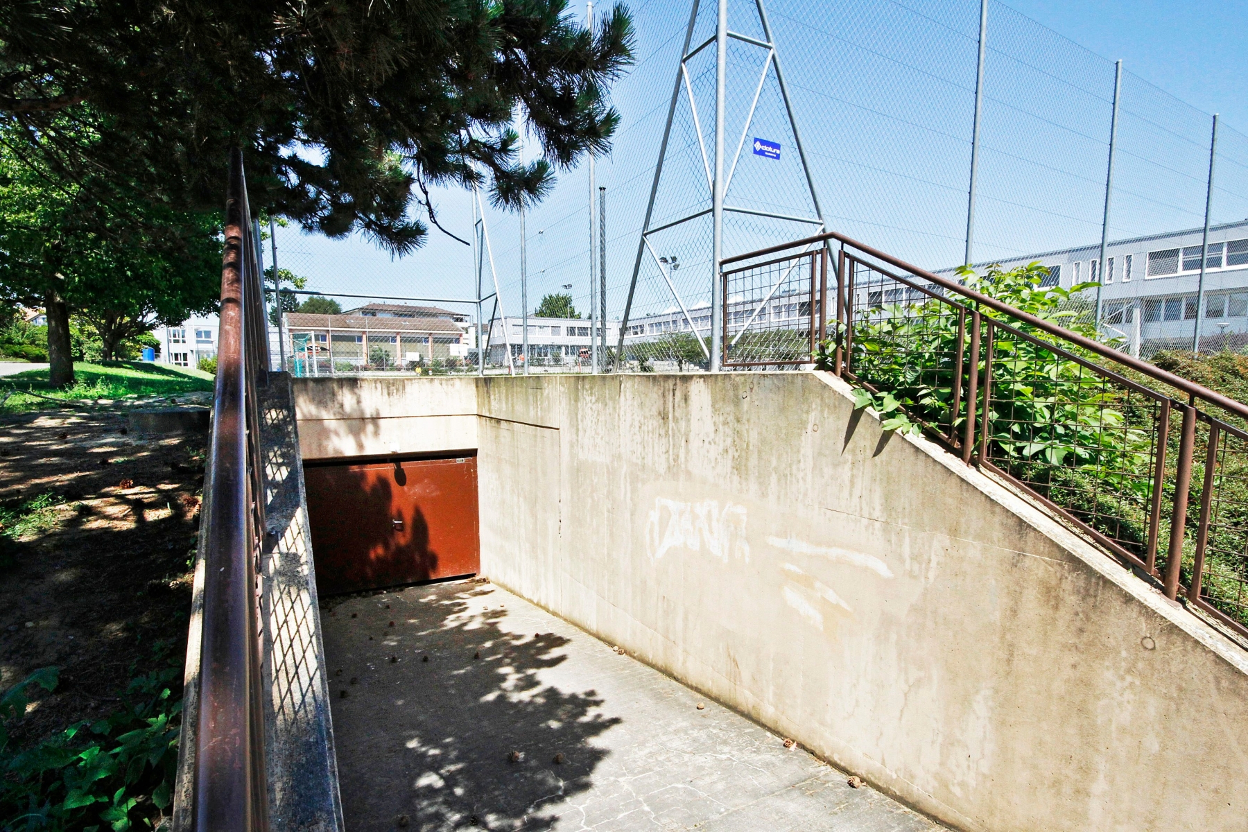
<svg viewBox="0 0 1248 832">
<path fill-rule="evenodd" d="M 623 116 L 610 157 L 598 161 L 608 188 L 608 308 L 623 311 L 639 230 L 671 94 L 689 5 L 630 4 L 638 27 L 633 71 L 617 84 Z M 1108 148 L 1112 60 L 1124 61 L 1119 151 L 1111 237 L 1193 227 L 1202 220 L 1209 112 L 1222 114 L 1214 220 L 1248 217 L 1248 50 L 1246 5 L 992 0 L 988 22 L 975 258 L 1005 258 L 1099 238 Z M 583 10 L 583 6 L 582 6 Z M 977 0 L 768 0 L 796 119 L 825 221 L 864 242 L 927 267 L 961 262 L 973 110 Z M 699 14 L 694 42 L 713 30 Z M 750 0 L 729 0 L 729 25 L 760 36 Z M 710 141 L 714 65 L 710 50 L 690 61 L 700 126 Z M 761 54 L 733 41 L 726 123 L 729 152 L 743 132 L 781 145 L 780 160 L 743 153 L 729 202 L 812 217 L 779 89 L 769 75 L 750 125 L 745 115 Z M 1177 97 L 1176 97 L 1177 96 Z M 655 220 L 709 205 L 693 114 L 676 111 Z M 585 166 L 560 172 L 554 193 L 528 217 L 529 307 L 572 284 L 589 307 L 589 215 Z M 443 225 L 470 236 L 470 197 L 437 195 Z M 507 314 L 519 312 L 519 227 L 487 210 L 494 266 Z M 810 226 L 733 217 L 726 254 L 810 233 Z M 711 279 L 709 222 L 654 238 L 656 254 L 678 254 L 671 273 L 686 306 L 704 303 Z M 278 232 L 283 267 L 327 292 L 403 297 L 470 297 L 470 251 L 431 231 L 428 244 L 392 261 L 359 239 L 327 241 Z M 285 254 L 283 254 L 285 252 Z M 597 254 L 595 254 L 597 257 Z M 493 291 L 485 273 L 485 293 Z M 646 257 L 634 314 L 675 307 Z M 489 314 L 489 309 L 487 309 Z"/>
</svg>

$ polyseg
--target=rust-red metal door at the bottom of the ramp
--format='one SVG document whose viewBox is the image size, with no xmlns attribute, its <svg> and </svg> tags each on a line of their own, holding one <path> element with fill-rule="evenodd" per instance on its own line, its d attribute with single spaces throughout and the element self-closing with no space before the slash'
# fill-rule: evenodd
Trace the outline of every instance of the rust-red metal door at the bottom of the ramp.
<svg viewBox="0 0 1248 832">
<path fill-rule="evenodd" d="M 305 467 L 323 595 L 480 570 L 477 458 Z"/>
</svg>

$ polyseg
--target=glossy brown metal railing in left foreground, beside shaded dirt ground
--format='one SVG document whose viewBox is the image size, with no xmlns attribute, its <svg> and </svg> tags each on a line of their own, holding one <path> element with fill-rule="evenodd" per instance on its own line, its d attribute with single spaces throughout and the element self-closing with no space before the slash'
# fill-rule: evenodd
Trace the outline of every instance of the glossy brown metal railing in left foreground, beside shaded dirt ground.
<svg viewBox="0 0 1248 832">
<path fill-rule="evenodd" d="M 257 239 L 242 155 L 230 160 L 221 334 L 205 481 L 203 612 L 193 828 L 266 830 L 257 565 L 265 529 L 257 380 L 268 369 Z"/>
</svg>

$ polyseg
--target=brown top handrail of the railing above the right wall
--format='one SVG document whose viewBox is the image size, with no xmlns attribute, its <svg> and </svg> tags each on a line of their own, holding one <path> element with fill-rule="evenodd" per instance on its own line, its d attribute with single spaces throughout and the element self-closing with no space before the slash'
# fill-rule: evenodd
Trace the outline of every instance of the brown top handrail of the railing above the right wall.
<svg viewBox="0 0 1248 832">
<path fill-rule="evenodd" d="M 1032 327 L 1036 327 L 1037 329 L 1047 332 L 1051 336 L 1056 336 L 1062 341 L 1077 344 L 1078 347 L 1087 349 L 1088 352 L 1094 353 L 1097 356 L 1101 356 L 1102 358 L 1107 358 L 1114 363 L 1129 367 L 1131 369 L 1136 370 L 1137 373 L 1141 373 L 1142 375 L 1147 375 L 1154 380 L 1162 382 L 1163 384 L 1168 384 L 1169 387 L 1173 387 L 1177 390 L 1182 390 L 1183 393 L 1187 393 L 1188 395 L 1196 399 L 1203 399 L 1206 402 L 1209 402 L 1211 404 L 1216 404 L 1229 413 L 1234 413 L 1242 419 L 1248 419 L 1248 405 L 1243 404 L 1242 402 L 1236 402 L 1234 399 L 1227 398 L 1221 393 L 1216 393 L 1214 390 L 1211 390 L 1207 387 L 1197 384 L 1196 382 L 1186 379 L 1181 375 L 1176 375 L 1173 373 L 1168 373 L 1154 364 L 1149 364 L 1146 360 L 1141 360 L 1138 358 L 1134 358 L 1133 356 L 1128 356 L 1111 347 L 1106 347 L 1104 344 L 1096 342 L 1091 338 L 1086 338 L 1085 336 L 1081 336 L 1077 332 L 1071 332 L 1070 329 L 1060 327 L 1052 323 L 1051 321 L 1045 321 L 1043 318 L 1037 318 L 1033 314 L 1028 314 L 1021 309 L 1016 309 L 1007 303 L 997 301 L 996 298 L 991 298 L 987 294 L 967 288 L 961 283 L 958 283 L 957 281 L 951 281 L 947 277 L 934 274 L 932 272 L 929 272 L 925 268 L 920 268 L 917 266 L 907 263 L 900 257 L 894 257 L 892 254 L 885 253 L 879 248 L 872 248 L 866 243 L 861 243 L 854 239 L 852 237 L 847 237 L 837 232 L 815 235 L 814 237 L 795 239 L 792 242 L 782 243 L 780 246 L 771 246 L 770 248 L 760 248 L 759 251 L 749 252 L 746 254 L 728 257 L 721 262 L 721 266 L 728 266 L 729 263 L 738 263 L 741 261 L 753 259 L 755 257 L 766 257 L 768 254 L 774 254 L 776 252 L 781 252 L 787 248 L 797 248 L 801 246 L 816 244 L 830 239 L 835 239 L 840 243 L 844 243 L 850 248 L 856 248 L 857 251 L 869 254 L 875 259 L 879 259 L 880 262 L 889 263 L 890 266 L 904 269 L 911 274 L 922 277 L 925 281 L 930 281 L 931 283 L 935 283 L 936 286 L 940 286 L 941 288 L 948 292 L 955 292 L 956 294 L 961 294 L 968 301 L 975 301 L 976 303 L 985 306 L 990 309 L 995 309 L 997 312 L 1008 314 L 1010 317 L 1017 321 L 1022 321 Z"/>
</svg>

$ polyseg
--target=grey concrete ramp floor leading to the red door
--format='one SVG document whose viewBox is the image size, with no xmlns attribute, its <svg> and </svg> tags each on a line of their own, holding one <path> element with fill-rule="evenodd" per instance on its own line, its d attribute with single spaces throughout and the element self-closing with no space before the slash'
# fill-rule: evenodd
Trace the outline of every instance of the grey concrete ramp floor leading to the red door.
<svg viewBox="0 0 1248 832">
<path fill-rule="evenodd" d="M 941 828 L 490 584 L 322 621 L 348 832 Z"/>
</svg>

